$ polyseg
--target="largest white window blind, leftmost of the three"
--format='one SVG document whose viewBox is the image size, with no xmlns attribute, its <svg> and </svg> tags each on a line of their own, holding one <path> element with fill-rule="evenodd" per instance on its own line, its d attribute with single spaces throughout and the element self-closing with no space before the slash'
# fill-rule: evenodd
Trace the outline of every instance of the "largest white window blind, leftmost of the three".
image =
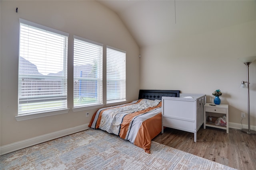
<svg viewBox="0 0 256 170">
<path fill-rule="evenodd" d="M 18 115 L 67 108 L 68 33 L 20 19 Z"/>
</svg>

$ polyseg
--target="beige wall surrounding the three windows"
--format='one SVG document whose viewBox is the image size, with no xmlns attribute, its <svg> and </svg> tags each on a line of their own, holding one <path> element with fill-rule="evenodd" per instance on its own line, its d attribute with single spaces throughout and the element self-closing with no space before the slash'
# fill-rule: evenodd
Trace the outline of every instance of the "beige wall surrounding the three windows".
<svg viewBox="0 0 256 170">
<path fill-rule="evenodd" d="M 132 101 L 138 98 L 139 47 L 114 12 L 96 1 L 1 0 L 0 3 L 1 147 L 64 129 L 83 125 L 87 127 L 96 109 L 72 111 L 73 35 L 103 43 L 104 47 L 110 45 L 126 51 L 127 100 Z M 15 11 L 16 7 L 18 7 L 18 13 Z M 16 121 L 15 116 L 18 114 L 19 18 L 69 33 L 68 108 L 70 111 L 67 114 Z M 104 50 L 104 56 L 106 59 L 106 50 Z M 106 75 L 104 75 L 104 81 L 106 82 Z M 90 113 L 90 117 L 86 117 L 86 112 Z"/>
</svg>

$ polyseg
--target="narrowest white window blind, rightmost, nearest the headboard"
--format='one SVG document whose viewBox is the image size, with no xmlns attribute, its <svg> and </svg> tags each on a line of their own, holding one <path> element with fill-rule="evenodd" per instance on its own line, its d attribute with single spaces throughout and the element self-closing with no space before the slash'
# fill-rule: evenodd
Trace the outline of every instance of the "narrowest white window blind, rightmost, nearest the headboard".
<svg viewBox="0 0 256 170">
<path fill-rule="evenodd" d="M 107 46 L 107 103 L 126 100 L 126 52 Z"/>
</svg>

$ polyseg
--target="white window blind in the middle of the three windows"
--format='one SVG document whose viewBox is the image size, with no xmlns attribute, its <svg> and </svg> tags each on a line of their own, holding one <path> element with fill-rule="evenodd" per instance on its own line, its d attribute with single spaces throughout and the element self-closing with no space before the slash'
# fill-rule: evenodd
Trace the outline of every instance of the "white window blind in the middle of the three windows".
<svg viewBox="0 0 256 170">
<path fill-rule="evenodd" d="M 74 107 L 102 104 L 103 45 L 74 36 Z"/>
</svg>

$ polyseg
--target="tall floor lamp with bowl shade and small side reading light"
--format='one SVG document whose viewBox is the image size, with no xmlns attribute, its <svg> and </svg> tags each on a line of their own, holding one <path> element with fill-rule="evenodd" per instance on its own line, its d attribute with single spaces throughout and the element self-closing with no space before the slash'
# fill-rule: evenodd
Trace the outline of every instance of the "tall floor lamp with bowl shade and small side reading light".
<svg viewBox="0 0 256 170">
<path fill-rule="evenodd" d="M 242 129 L 243 133 L 247 133 L 249 135 L 256 135 L 256 131 L 254 130 L 250 130 L 250 96 L 249 96 L 249 65 L 256 60 L 256 56 L 254 57 L 244 57 L 244 58 L 240 58 L 240 61 L 242 61 L 246 67 L 247 67 L 247 82 L 242 81 L 241 83 L 241 87 L 242 88 L 246 88 L 246 84 L 247 83 L 247 104 L 248 104 L 248 129 Z"/>
</svg>

